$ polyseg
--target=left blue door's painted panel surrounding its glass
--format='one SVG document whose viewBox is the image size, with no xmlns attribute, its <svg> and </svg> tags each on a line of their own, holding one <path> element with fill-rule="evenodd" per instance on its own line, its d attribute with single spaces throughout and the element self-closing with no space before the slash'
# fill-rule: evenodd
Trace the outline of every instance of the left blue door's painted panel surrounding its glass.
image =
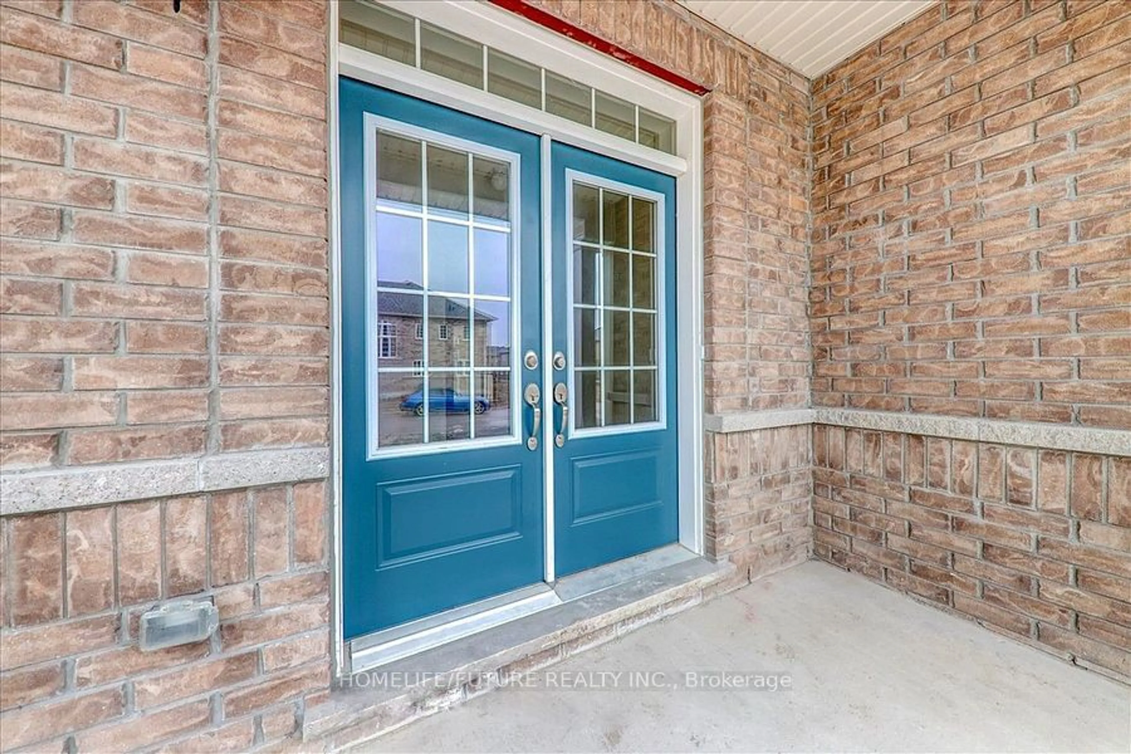
<svg viewBox="0 0 1131 754">
<path fill-rule="evenodd" d="M 539 141 L 439 105 L 343 78 L 342 391 L 343 601 L 347 639 L 535 583 L 543 578 L 542 453 L 508 445 L 368 459 L 365 364 L 366 240 L 364 114 L 519 155 L 519 340 L 539 349 Z M 372 262 L 372 260 L 369 260 Z M 521 371 L 511 380 L 541 381 Z M 412 410 L 406 391 L 402 408 Z M 415 401 L 423 401 L 416 395 Z M 433 410 L 467 413 L 470 402 L 430 398 Z M 409 405 L 405 405 L 405 404 Z M 497 410 L 492 408 L 492 410 Z M 523 437 L 528 410 L 520 414 Z M 516 419 L 518 421 L 518 419 Z"/>
</svg>

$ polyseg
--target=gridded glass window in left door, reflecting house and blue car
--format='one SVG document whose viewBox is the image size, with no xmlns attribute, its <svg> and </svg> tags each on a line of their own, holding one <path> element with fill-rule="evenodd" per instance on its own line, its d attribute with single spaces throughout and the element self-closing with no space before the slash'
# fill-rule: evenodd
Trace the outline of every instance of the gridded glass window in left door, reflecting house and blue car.
<svg viewBox="0 0 1131 754">
<path fill-rule="evenodd" d="M 515 158 L 372 139 L 371 450 L 513 439 Z"/>
</svg>

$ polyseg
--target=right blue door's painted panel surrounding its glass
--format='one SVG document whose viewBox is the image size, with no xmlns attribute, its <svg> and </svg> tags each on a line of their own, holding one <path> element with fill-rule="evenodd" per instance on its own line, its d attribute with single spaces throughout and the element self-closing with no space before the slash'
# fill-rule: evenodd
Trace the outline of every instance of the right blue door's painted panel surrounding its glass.
<svg viewBox="0 0 1131 754">
<path fill-rule="evenodd" d="M 584 433 L 554 450 L 554 562 L 559 577 L 629 557 L 676 541 L 677 457 L 675 361 L 675 180 L 654 171 L 554 144 L 551 148 L 553 249 L 553 349 L 569 354 L 572 317 L 568 280 L 573 275 L 571 227 L 567 217 L 567 171 L 663 194 L 664 274 L 659 286 L 666 349 L 664 428 L 613 434 Z M 581 179 L 584 182 L 584 179 Z M 573 369 L 573 365 L 569 365 Z M 554 372 L 554 381 L 561 379 Z M 576 408 L 577 395 L 571 398 Z M 575 416 L 577 415 L 575 410 Z M 553 422 L 561 422 L 554 407 Z"/>
</svg>

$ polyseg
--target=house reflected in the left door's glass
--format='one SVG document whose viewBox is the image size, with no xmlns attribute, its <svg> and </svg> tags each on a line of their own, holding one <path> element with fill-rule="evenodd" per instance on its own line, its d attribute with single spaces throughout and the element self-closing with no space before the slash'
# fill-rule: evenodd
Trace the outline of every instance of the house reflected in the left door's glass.
<svg viewBox="0 0 1131 754">
<path fill-rule="evenodd" d="M 472 366 L 510 366 L 509 317 L 483 311 L 485 306 L 473 309 L 470 300 L 461 296 L 429 295 L 425 319 L 425 295 L 420 285 L 379 280 L 378 287 L 374 346 L 379 369 L 411 369 L 412 374 L 420 378 L 417 389 L 423 385 L 424 371 L 432 370 L 433 387 L 443 382 L 460 392 L 470 392 Z M 486 305 L 499 307 L 500 304 Z M 383 382 L 390 388 L 396 384 L 392 380 Z M 476 392 L 492 404 L 506 402 L 507 382 L 492 379 L 492 373 L 480 373 Z M 495 395 L 500 391 L 501 395 Z M 396 397 L 381 390 L 381 399 Z"/>
</svg>

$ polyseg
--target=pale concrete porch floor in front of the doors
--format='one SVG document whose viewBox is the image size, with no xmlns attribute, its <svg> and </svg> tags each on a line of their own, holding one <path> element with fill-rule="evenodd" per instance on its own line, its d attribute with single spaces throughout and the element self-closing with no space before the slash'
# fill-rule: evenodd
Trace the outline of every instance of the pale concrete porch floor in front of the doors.
<svg viewBox="0 0 1131 754">
<path fill-rule="evenodd" d="M 793 688 L 509 686 L 361 748 L 1131 751 L 1131 688 L 819 562 L 532 678 L 616 670 L 785 673 Z"/>
</svg>

